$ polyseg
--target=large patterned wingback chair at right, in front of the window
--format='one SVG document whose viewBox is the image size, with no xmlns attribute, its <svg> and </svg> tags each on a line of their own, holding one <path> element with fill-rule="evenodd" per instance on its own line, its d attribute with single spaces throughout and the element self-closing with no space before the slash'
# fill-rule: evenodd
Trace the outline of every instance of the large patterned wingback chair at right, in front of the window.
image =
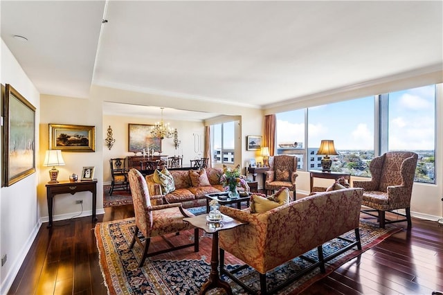
<svg viewBox="0 0 443 295">
<path fill-rule="evenodd" d="M 373 209 L 363 209 L 362 212 L 377 217 L 381 228 L 394 222 L 410 220 L 410 197 L 413 191 L 415 168 L 418 156 L 415 152 L 387 152 L 374 158 L 369 166 L 372 175 L 370 181 L 354 181 L 354 188 L 363 188 L 362 205 Z M 392 211 L 405 209 L 406 214 Z M 401 220 L 386 220 L 385 212 L 390 211 L 406 217 Z M 378 212 L 374 215 L 372 212 Z"/>
</svg>

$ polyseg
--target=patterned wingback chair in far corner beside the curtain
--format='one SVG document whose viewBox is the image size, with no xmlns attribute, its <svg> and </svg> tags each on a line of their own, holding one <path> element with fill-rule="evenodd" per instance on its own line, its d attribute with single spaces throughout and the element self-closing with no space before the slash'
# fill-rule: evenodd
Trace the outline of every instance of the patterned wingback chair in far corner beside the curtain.
<svg viewBox="0 0 443 295">
<path fill-rule="evenodd" d="M 269 157 L 269 171 L 265 172 L 266 195 L 280 188 L 289 188 L 296 199 L 297 157 L 288 154 Z"/>
</svg>

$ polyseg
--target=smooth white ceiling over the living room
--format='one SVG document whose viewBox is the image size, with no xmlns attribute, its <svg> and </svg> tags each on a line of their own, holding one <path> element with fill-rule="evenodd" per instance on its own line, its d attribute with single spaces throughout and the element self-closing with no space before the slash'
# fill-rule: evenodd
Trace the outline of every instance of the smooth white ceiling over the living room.
<svg viewBox="0 0 443 295">
<path fill-rule="evenodd" d="M 99 85 L 264 108 L 441 70 L 442 8 L 442 1 L 2 0 L 1 38 L 40 93 L 87 98 Z"/>
</svg>

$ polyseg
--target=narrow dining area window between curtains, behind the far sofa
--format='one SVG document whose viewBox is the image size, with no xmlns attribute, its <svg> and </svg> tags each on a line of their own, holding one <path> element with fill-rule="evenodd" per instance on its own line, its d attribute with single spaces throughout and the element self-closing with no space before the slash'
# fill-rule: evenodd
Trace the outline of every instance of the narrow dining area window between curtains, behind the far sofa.
<svg viewBox="0 0 443 295">
<path fill-rule="evenodd" d="M 214 163 L 234 163 L 234 121 L 210 126 Z"/>
</svg>

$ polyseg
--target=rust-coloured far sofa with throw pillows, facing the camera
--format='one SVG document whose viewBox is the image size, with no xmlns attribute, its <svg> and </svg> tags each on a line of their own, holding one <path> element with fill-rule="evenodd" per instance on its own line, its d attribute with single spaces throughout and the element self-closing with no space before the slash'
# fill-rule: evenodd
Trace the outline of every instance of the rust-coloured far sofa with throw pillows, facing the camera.
<svg viewBox="0 0 443 295">
<path fill-rule="evenodd" d="M 167 203 L 181 203 L 183 208 L 206 206 L 206 194 L 220 193 L 224 186 L 220 183 L 221 168 L 201 170 L 169 170 L 174 179 L 174 189 L 165 193 L 162 186 L 154 181 L 154 175 L 147 175 L 146 183 L 150 195 L 163 195 Z"/>
</svg>

